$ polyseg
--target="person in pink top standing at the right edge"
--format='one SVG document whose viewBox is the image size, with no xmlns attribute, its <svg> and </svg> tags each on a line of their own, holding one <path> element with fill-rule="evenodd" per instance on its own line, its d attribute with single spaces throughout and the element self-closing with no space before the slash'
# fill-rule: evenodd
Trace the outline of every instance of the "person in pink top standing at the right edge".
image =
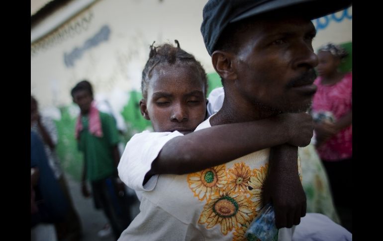
<svg viewBox="0 0 383 241">
<path fill-rule="evenodd" d="M 326 168 L 342 225 L 352 232 L 352 73 L 338 70 L 348 53 L 340 46 L 319 48 L 317 91 L 312 103 L 316 148 Z"/>
</svg>

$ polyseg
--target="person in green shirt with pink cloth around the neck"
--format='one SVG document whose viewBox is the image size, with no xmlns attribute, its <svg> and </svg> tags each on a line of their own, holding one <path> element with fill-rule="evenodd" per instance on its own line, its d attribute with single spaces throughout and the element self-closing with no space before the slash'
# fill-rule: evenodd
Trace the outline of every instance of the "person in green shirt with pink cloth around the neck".
<svg viewBox="0 0 383 241">
<path fill-rule="evenodd" d="M 76 139 L 84 154 L 82 193 L 90 197 L 86 180 L 90 181 L 96 209 L 103 210 L 118 239 L 131 220 L 125 187 L 117 175 L 120 157 L 116 123 L 111 115 L 96 108 L 89 81 L 77 83 L 71 95 L 81 111 L 76 123 Z"/>
</svg>

